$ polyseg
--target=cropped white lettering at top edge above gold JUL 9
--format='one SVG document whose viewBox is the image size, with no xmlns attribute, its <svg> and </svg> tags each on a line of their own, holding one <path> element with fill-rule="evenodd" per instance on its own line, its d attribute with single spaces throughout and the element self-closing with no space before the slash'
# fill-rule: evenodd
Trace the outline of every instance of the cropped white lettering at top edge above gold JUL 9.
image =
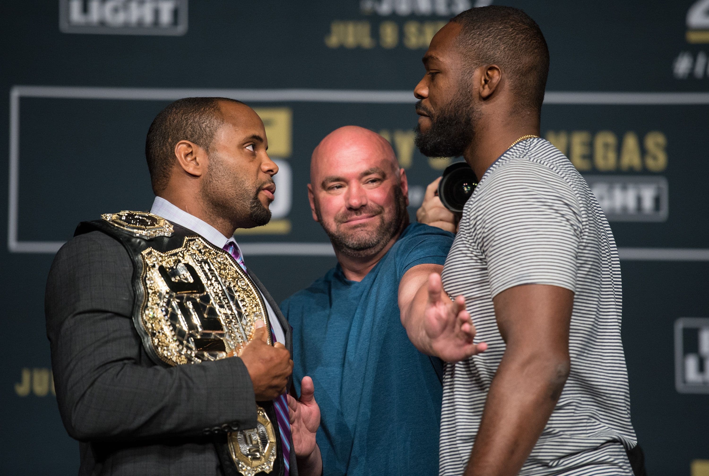
<svg viewBox="0 0 709 476">
<path fill-rule="evenodd" d="M 365 15 L 376 13 L 389 16 L 407 16 L 413 13 L 420 16 L 454 16 L 473 8 L 488 6 L 493 0 L 361 0 L 359 8 Z"/>
</svg>

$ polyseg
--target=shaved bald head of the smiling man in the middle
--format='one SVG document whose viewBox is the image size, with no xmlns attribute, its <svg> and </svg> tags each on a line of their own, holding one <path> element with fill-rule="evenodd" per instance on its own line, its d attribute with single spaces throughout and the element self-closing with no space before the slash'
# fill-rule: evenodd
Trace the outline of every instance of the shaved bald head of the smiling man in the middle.
<svg viewBox="0 0 709 476">
<path fill-rule="evenodd" d="M 308 198 L 335 251 L 352 258 L 376 255 L 408 225 L 406 172 L 384 137 L 355 125 L 313 151 Z"/>
</svg>

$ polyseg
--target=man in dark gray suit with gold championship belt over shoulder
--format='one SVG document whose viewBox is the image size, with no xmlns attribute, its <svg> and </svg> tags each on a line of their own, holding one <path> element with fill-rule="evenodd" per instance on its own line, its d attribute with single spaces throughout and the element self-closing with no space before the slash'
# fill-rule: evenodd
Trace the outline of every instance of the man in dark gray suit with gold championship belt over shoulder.
<svg viewBox="0 0 709 476">
<path fill-rule="evenodd" d="M 145 149 L 156 194 L 151 213 L 107 214 L 83 223 L 50 270 L 45 314 L 52 370 L 62 421 L 80 442 L 79 474 L 246 476 L 255 474 L 248 458 L 276 447 L 269 453 L 269 476 L 297 475 L 297 464 L 301 474 L 318 474 L 319 452 L 302 455 L 291 438 L 284 396 L 293 368 L 290 327 L 247 271 L 233 239 L 235 229 L 264 225 L 271 216 L 278 167 L 266 153 L 262 121 L 238 101 L 186 98 L 157 115 Z M 178 239 L 214 256 L 201 261 L 204 270 L 227 263 L 230 276 L 241 277 L 233 288 L 222 284 L 232 308 L 236 288 L 260 295 L 252 299 L 262 312 L 249 314 L 258 319 L 248 328 L 250 341 L 235 346 L 215 337 L 228 334 L 221 328 L 224 311 L 207 296 L 208 305 L 195 313 L 198 301 L 190 297 L 205 297 L 194 293 L 208 275 L 180 262 L 160 266 L 168 293 L 174 291 L 174 312 L 157 309 L 179 322 L 164 326 L 172 325 L 167 335 L 174 337 L 156 344 L 160 332 L 148 319 L 154 314 L 145 313 L 145 273 L 151 271 L 145 252 L 184 250 L 174 246 Z M 202 322 L 186 322 L 188 311 Z M 210 319 L 209 325 L 217 323 L 211 333 Z M 197 339 L 204 336 L 211 337 Z M 259 446 L 259 438 L 272 446 Z M 239 448 L 246 466 L 235 457 Z"/>
</svg>

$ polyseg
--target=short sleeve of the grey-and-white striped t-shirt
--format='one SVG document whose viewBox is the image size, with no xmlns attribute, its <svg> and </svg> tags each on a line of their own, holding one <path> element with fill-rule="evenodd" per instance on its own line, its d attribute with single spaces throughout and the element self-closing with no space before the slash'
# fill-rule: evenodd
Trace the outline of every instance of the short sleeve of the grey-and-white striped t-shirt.
<svg viewBox="0 0 709 476">
<path fill-rule="evenodd" d="M 512 162 L 493 171 L 481 192 L 471 228 L 492 297 L 521 284 L 575 292 L 581 209 L 562 176 L 540 164 Z"/>
</svg>

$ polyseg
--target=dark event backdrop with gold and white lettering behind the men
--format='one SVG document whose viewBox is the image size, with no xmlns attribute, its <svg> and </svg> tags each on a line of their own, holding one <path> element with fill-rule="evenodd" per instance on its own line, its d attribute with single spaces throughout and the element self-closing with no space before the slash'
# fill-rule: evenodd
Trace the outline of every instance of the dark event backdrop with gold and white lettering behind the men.
<svg viewBox="0 0 709 476">
<path fill-rule="evenodd" d="M 328 132 L 359 125 L 391 142 L 412 219 L 428 183 L 462 160 L 418 152 L 413 88 L 437 30 L 494 3 L 542 28 L 542 137 L 588 181 L 618 244 L 631 417 L 648 472 L 709 475 L 709 0 L 2 3 L 0 473 L 77 472 L 44 286 L 78 222 L 150 209 L 145 135 L 164 106 L 224 96 L 264 121 L 279 166 L 272 220 L 235 236 L 280 301 L 335 264 L 306 188 Z"/>
</svg>

